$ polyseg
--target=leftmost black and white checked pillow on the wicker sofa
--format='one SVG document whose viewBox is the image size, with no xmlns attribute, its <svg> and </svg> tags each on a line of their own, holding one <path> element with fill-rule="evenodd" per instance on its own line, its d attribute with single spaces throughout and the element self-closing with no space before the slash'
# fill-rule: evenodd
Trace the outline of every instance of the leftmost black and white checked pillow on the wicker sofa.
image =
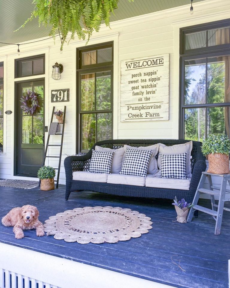
<svg viewBox="0 0 230 288">
<path fill-rule="evenodd" d="M 89 172 L 110 173 L 114 151 L 95 151 L 92 150 Z"/>
</svg>

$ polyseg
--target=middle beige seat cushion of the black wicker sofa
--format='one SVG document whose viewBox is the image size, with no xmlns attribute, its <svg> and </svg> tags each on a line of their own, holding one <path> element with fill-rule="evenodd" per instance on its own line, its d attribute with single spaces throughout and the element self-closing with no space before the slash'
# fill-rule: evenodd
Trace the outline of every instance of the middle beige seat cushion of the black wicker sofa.
<svg viewBox="0 0 230 288">
<path fill-rule="evenodd" d="M 125 184 L 134 186 L 145 186 L 146 177 L 124 175 L 124 174 L 109 174 L 107 183 L 111 184 Z"/>
</svg>

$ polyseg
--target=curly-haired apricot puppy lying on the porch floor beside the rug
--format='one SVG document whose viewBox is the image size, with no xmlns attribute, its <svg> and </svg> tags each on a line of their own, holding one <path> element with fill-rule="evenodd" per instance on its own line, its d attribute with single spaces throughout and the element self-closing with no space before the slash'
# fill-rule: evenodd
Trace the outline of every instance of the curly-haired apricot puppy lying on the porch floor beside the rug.
<svg viewBox="0 0 230 288">
<path fill-rule="evenodd" d="M 10 210 L 6 216 L 1 219 L 4 226 L 13 226 L 15 238 L 24 237 L 23 230 L 36 229 L 37 236 L 44 236 L 44 226 L 38 220 L 39 211 L 37 207 L 25 205 Z"/>
</svg>

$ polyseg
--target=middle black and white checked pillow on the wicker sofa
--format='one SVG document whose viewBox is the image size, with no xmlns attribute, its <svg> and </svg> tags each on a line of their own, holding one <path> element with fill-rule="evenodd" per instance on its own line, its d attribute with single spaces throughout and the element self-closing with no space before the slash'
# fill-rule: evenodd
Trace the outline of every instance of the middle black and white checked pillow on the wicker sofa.
<svg viewBox="0 0 230 288">
<path fill-rule="evenodd" d="M 125 160 L 119 174 L 146 177 L 152 150 L 126 148 Z"/>
</svg>

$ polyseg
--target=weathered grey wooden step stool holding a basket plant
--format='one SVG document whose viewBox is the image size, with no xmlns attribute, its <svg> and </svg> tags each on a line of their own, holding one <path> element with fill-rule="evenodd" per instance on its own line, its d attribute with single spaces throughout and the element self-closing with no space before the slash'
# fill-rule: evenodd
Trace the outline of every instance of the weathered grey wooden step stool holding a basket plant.
<svg viewBox="0 0 230 288">
<path fill-rule="evenodd" d="M 212 176 L 221 177 L 220 188 L 212 185 Z M 203 188 L 206 177 L 208 178 L 209 189 Z M 188 217 L 187 217 L 187 222 L 191 222 L 191 220 L 193 218 L 193 214 L 196 210 L 205 212 L 207 214 L 210 214 L 216 220 L 215 235 L 220 234 L 222 217 L 223 217 L 223 210 L 230 211 L 229 208 L 224 207 L 224 202 L 230 201 L 230 199 L 225 200 L 225 193 L 230 192 L 230 190 L 226 190 L 227 181 L 229 182 L 229 185 L 230 185 L 230 174 L 212 174 L 212 173 L 208 173 L 208 172 L 202 172 L 200 182 L 198 184 L 195 196 L 193 198 L 194 206 L 190 208 L 190 211 L 189 211 Z M 219 191 L 213 191 L 213 189 L 219 190 Z M 202 207 L 200 205 L 197 205 L 201 192 L 208 194 L 210 196 L 212 209 L 208 209 L 208 208 Z M 215 201 L 215 195 L 219 196 L 218 205 L 216 204 L 216 201 Z"/>
</svg>

